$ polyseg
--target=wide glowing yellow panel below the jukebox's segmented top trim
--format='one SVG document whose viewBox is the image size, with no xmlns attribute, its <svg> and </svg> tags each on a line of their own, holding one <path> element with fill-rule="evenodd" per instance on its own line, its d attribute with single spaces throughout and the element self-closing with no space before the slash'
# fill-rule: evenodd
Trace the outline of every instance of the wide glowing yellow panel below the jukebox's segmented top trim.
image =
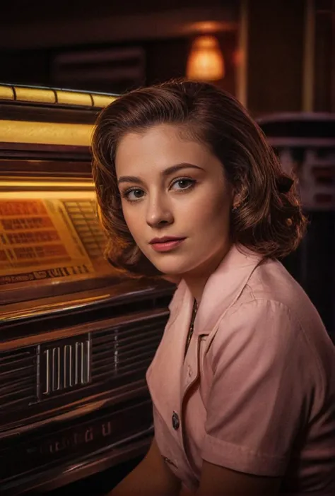
<svg viewBox="0 0 335 496">
<path fill-rule="evenodd" d="M 8 143 L 90 146 L 92 134 L 90 124 L 0 120 L 0 141 Z"/>
</svg>

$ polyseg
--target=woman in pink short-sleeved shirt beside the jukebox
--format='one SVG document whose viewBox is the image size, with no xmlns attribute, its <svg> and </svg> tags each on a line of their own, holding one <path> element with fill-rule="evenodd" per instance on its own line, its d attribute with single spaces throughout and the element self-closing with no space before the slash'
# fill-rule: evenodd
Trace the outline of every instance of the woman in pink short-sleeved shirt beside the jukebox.
<svg viewBox="0 0 335 496">
<path fill-rule="evenodd" d="M 107 255 L 178 283 L 147 372 L 155 437 L 119 495 L 335 494 L 335 353 L 277 260 L 306 220 L 239 102 L 206 83 L 135 90 L 93 138 Z"/>
</svg>

